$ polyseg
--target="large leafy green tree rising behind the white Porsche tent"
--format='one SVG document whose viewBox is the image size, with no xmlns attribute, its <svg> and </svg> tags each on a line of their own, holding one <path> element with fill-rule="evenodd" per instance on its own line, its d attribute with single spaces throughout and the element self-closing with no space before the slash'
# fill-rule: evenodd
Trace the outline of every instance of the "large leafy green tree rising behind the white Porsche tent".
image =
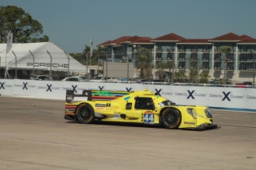
<svg viewBox="0 0 256 170">
<path fill-rule="evenodd" d="M 6 42 L 7 33 L 13 33 L 14 43 L 49 41 L 49 37 L 42 33 L 42 24 L 26 13 L 21 7 L 0 7 L 0 43 Z"/>
</svg>

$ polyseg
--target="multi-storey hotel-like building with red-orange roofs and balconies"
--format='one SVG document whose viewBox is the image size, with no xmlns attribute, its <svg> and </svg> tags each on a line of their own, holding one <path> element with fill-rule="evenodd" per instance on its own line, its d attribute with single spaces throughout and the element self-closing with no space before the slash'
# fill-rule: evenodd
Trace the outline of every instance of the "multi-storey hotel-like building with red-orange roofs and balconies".
<svg viewBox="0 0 256 170">
<path fill-rule="evenodd" d="M 227 64 L 220 52 L 222 46 L 232 47 Z M 129 61 L 136 67 L 138 47 L 151 52 L 154 72 L 158 62 L 174 62 L 174 71 L 188 71 L 191 60 L 197 64 L 200 73 L 206 73 L 212 79 L 222 79 L 226 69 L 226 78 L 232 82 L 253 81 L 255 78 L 256 38 L 249 35 L 227 33 L 215 38 L 184 38 L 170 33 L 158 38 L 140 36 L 122 36 L 114 41 L 99 44 L 105 50 L 108 61 Z M 127 58 L 128 57 L 128 58 Z M 122 60 L 124 59 L 125 60 Z M 127 60 L 128 59 L 128 60 Z M 168 72 L 169 69 L 165 71 Z"/>
</svg>

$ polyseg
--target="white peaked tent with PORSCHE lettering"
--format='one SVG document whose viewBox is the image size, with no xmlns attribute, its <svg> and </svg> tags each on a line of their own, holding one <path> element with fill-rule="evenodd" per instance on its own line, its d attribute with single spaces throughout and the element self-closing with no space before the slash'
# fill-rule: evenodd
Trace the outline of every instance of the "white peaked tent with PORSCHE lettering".
<svg viewBox="0 0 256 170">
<path fill-rule="evenodd" d="M 0 44 L 0 68 L 85 72 L 86 67 L 51 42 Z M 32 53 L 32 54 L 31 54 Z"/>
</svg>

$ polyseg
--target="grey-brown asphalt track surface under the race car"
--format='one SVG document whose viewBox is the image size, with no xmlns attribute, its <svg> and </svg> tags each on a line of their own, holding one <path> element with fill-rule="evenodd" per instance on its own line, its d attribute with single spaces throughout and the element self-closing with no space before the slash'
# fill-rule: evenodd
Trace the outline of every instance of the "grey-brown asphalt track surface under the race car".
<svg viewBox="0 0 256 170">
<path fill-rule="evenodd" d="M 220 129 L 64 120 L 65 101 L 0 97 L 0 169 L 256 169 L 256 113 L 214 110 Z"/>
</svg>

